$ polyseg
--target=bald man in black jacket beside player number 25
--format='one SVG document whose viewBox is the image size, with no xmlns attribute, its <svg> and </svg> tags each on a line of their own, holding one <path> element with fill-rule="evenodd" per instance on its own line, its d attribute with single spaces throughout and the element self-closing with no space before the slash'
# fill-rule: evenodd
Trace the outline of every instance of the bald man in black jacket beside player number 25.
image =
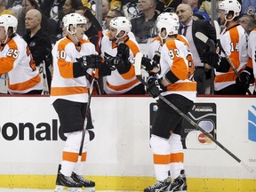
<svg viewBox="0 0 256 192">
<path fill-rule="evenodd" d="M 47 79 L 48 91 L 51 87 L 51 71 L 52 66 L 52 44 L 49 36 L 41 28 L 42 14 L 36 9 L 31 9 L 26 13 L 25 27 L 28 29 L 27 34 L 23 36 L 36 62 L 36 67 L 40 67 L 43 63 Z M 45 89 L 45 88 L 44 88 Z M 46 89 L 45 89 L 46 90 Z"/>
</svg>

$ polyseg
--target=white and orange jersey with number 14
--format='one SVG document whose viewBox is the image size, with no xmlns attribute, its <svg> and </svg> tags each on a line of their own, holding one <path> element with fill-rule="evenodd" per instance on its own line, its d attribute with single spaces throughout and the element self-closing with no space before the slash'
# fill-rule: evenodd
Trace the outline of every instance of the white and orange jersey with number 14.
<svg viewBox="0 0 256 192">
<path fill-rule="evenodd" d="M 248 39 L 244 28 L 241 25 L 234 26 L 228 30 L 224 30 L 220 34 L 220 44 L 228 55 L 228 59 L 234 64 L 236 70 L 239 72 L 248 63 Z M 225 56 L 223 52 L 221 56 Z M 215 69 L 214 90 L 220 91 L 228 87 L 230 84 L 236 84 L 236 73 L 233 68 L 229 68 L 227 73 L 221 73 Z"/>
</svg>

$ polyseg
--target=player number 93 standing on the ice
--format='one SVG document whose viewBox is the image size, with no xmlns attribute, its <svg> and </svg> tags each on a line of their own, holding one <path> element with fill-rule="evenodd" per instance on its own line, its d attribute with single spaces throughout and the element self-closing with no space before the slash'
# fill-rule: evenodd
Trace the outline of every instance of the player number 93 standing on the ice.
<svg viewBox="0 0 256 192">
<path fill-rule="evenodd" d="M 178 39 L 179 26 L 179 20 L 172 13 L 164 13 L 156 22 L 159 36 L 165 42 L 161 49 L 158 82 L 163 89 L 161 94 L 186 114 L 193 106 L 192 100 L 196 98 L 196 82 L 188 80 L 187 57 L 190 52 L 186 44 Z M 143 61 L 141 64 L 145 65 Z M 150 72 L 153 71 L 156 68 Z M 156 80 L 149 76 L 148 84 L 148 93 L 156 98 L 160 94 Z M 157 181 L 145 188 L 144 192 L 187 191 L 180 141 L 182 117 L 163 100 L 158 100 L 157 106 L 150 138 Z"/>
</svg>

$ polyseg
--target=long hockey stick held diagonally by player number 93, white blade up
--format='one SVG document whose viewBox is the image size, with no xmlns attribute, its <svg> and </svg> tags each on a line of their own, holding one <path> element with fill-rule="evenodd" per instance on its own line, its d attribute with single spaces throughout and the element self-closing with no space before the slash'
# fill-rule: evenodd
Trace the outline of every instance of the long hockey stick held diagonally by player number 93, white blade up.
<svg viewBox="0 0 256 192">
<path fill-rule="evenodd" d="M 146 87 L 148 87 L 148 84 L 141 77 L 142 56 L 143 56 L 143 54 L 141 52 L 138 52 L 135 56 L 135 75 L 142 84 L 144 84 Z M 164 96 L 161 94 L 158 97 L 159 97 L 159 99 L 163 100 L 168 106 L 170 106 L 172 109 L 174 109 L 178 114 L 180 114 L 180 116 L 182 116 L 182 118 L 184 118 L 186 121 L 188 121 L 189 124 L 194 126 L 196 128 L 196 130 L 203 132 L 210 140 L 212 140 L 215 144 L 217 144 L 220 148 L 222 148 L 225 152 L 227 152 L 229 156 L 232 156 L 239 164 L 242 164 L 245 169 L 247 169 L 249 172 L 253 172 L 251 167 L 249 167 L 247 164 L 244 164 L 244 162 L 242 162 L 237 156 L 235 156 L 227 148 L 225 148 L 218 140 L 215 140 L 209 132 L 205 132 L 203 128 L 201 128 L 192 119 L 190 119 L 188 116 L 186 116 L 182 111 L 180 111 L 179 108 L 176 108 L 172 104 L 172 102 L 170 102 L 169 100 L 166 100 L 164 98 Z"/>
</svg>

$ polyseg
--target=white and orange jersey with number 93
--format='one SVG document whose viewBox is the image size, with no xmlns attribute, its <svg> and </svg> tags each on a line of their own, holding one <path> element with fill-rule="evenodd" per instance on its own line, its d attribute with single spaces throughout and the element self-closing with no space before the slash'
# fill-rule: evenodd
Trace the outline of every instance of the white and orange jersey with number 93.
<svg viewBox="0 0 256 192">
<path fill-rule="evenodd" d="M 196 82 L 188 80 L 188 51 L 187 46 L 177 40 L 172 39 L 164 44 L 161 50 L 161 73 L 158 78 L 164 77 L 170 70 L 178 77 L 178 81 L 167 86 L 167 91 L 162 95 L 172 93 L 183 95 L 188 100 L 196 99 Z"/>
</svg>

